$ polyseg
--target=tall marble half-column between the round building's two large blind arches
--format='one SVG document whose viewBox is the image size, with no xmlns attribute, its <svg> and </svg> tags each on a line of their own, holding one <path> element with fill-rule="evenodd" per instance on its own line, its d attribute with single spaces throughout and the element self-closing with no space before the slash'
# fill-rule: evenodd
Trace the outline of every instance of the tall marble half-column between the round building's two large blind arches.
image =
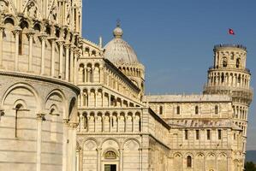
<svg viewBox="0 0 256 171">
<path fill-rule="evenodd" d="M 37 129 L 37 171 L 41 171 L 41 144 L 42 144 L 42 121 L 44 121 L 45 115 L 38 114 L 38 129 Z"/>
</svg>

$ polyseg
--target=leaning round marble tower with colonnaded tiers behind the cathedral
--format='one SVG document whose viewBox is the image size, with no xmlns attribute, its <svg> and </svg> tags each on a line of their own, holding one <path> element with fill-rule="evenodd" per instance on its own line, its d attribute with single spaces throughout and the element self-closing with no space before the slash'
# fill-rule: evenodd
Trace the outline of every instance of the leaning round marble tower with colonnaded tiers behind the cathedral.
<svg viewBox="0 0 256 171">
<path fill-rule="evenodd" d="M 232 97 L 232 121 L 242 129 L 241 145 L 245 154 L 248 109 L 253 99 L 251 73 L 246 68 L 247 48 L 240 44 L 219 44 L 213 51 L 214 65 L 208 70 L 204 93 L 229 94 Z"/>
</svg>

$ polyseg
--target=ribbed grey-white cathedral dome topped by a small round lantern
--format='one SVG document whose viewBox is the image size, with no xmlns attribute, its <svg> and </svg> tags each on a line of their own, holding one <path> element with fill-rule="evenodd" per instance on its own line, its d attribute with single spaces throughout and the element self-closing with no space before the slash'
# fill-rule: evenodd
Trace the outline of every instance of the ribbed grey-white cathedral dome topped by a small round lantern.
<svg viewBox="0 0 256 171">
<path fill-rule="evenodd" d="M 122 39 L 122 28 L 117 25 L 113 31 L 114 38 L 104 46 L 104 57 L 113 63 L 139 63 L 134 49 Z"/>
</svg>

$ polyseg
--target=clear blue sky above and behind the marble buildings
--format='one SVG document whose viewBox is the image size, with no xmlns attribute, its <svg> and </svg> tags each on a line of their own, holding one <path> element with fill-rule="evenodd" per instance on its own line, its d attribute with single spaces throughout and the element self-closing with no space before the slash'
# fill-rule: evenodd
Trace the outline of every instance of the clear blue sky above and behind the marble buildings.
<svg viewBox="0 0 256 171">
<path fill-rule="evenodd" d="M 83 37 L 98 43 L 102 36 L 106 44 L 120 19 L 153 94 L 200 93 L 214 44 L 243 44 L 256 87 L 255 8 L 255 0 L 83 0 Z M 256 150 L 255 99 L 251 106 L 247 150 Z"/>
</svg>

